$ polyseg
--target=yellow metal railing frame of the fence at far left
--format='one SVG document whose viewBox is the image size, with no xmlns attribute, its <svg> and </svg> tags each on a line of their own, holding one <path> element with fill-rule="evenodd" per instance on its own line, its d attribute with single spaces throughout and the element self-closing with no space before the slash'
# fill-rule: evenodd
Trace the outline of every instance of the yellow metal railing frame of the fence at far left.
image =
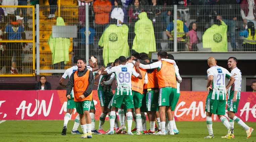
<svg viewBox="0 0 256 142">
<path fill-rule="evenodd" d="M 19 73 L 19 74 L 0 74 L 0 77 L 21 77 L 21 76 L 35 76 L 35 7 L 34 6 L 7 6 L 7 5 L 0 5 L 1 8 L 32 8 L 32 40 L 0 40 L 0 43 L 32 43 L 32 68 L 30 72 Z M 27 13 L 28 14 L 28 13 Z M 1 60 L 1 59 L 0 59 Z M 1 61 L 2 62 L 2 61 Z"/>
</svg>

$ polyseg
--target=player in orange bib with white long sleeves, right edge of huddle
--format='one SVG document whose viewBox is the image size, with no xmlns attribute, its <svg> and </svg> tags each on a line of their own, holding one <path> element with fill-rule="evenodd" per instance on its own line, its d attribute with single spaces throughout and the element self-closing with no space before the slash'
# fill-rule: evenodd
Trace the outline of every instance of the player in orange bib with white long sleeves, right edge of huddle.
<svg viewBox="0 0 256 142">
<path fill-rule="evenodd" d="M 157 80 L 159 87 L 159 113 L 161 121 L 161 131 L 157 132 L 157 135 L 165 135 L 165 111 L 167 111 L 171 106 L 171 101 L 176 92 L 177 84 L 175 77 L 175 69 L 172 64 L 162 61 L 162 59 L 167 58 L 167 52 L 159 51 L 157 53 L 158 62 L 154 62 L 149 65 L 140 64 L 140 68 L 143 69 L 157 69 Z M 171 112 L 167 112 L 168 119 L 172 123 L 173 116 Z M 170 124 L 172 129 L 173 125 Z"/>
</svg>

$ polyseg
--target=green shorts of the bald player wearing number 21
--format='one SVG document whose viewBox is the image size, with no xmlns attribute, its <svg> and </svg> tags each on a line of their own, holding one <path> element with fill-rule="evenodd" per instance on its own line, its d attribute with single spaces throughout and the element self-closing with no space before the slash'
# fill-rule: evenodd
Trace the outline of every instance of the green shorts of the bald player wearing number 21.
<svg viewBox="0 0 256 142">
<path fill-rule="evenodd" d="M 209 94 L 206 98 L 205 111 L 215 115 L 225 115 L 226 100 L 211 99 L 211 96 L 212 90 L 209 91 Z"/>
</svg>

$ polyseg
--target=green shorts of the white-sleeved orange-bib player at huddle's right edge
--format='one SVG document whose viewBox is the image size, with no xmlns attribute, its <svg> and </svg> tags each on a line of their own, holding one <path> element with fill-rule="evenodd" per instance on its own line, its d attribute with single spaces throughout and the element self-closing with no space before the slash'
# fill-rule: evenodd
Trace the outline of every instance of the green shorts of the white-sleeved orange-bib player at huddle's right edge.
<svg viewBox="0 0 256 142">
<path fill-rule="evenodd" d="M 174 98 L 176 88 L 163 87 L 159 89 L 159 106 L 171 106 L 172 99 Z"/>
</svg>

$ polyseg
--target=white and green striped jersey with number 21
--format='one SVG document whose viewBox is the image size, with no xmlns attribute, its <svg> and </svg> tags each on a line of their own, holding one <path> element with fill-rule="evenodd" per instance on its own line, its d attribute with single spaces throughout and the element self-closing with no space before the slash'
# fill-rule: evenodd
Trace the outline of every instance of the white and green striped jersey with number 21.
<svg viewBox="0 0 256 142">
<path fill-rule="evenodd" d="M 211 99 L 226 100 L 225 77 L 229 79 L 232 74 L 225 68 L 213 66 L 207 70 L 207 76 L 210 75 L 213 76 Z"/>
</svg>

